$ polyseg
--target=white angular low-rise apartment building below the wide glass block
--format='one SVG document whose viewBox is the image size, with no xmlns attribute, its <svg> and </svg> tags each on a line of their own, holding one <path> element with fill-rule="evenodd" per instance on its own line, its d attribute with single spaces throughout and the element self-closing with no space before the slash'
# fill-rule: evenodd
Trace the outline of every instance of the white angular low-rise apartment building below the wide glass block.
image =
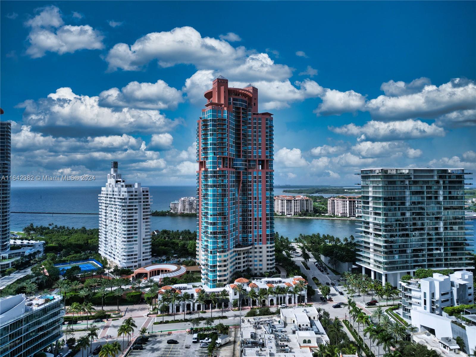
<svg viewBox="0 0 476 357">
<path fill-rule="evenodd" d="M 443 315 L 443 308 L 470 305 L 474 300 L 473 273 L 460 270 L 450 275 L 400 281 L 403 317 L 411 320 L 411 310 Z"/>
</svg>

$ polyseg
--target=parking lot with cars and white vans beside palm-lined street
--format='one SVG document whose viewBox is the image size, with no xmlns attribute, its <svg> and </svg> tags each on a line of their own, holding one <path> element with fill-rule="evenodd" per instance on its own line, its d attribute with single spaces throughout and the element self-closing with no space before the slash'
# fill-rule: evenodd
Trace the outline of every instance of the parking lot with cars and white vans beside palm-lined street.
<svg viewBox="0 0 476 357">
<path fill-rule="evenodd" d="M 231 331 L 230 336 L 233 335 L 234 331 Z M 192 343 L 193 335 L 179 333 L 149 335 L 149 337 L 149 341 L 143 345 L 144 349 L 131 350 L 128 357 L 205 357 L 208 355 L 207 348 L 200 348 L 200 343 Z M 177 340 L 178 344 L 167 344 L 169 339 Z M 214 354 L 216 353 L 218 356 L 232 356 L 233 341 L 218 347 L 215 351 Z"/>
</svg>

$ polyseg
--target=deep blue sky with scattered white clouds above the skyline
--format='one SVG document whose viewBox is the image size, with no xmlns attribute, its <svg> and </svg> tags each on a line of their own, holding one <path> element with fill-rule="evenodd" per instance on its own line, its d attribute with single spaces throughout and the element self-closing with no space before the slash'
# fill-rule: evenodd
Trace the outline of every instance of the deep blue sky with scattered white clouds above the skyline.
<svg viewBox="0 0 476 357">
<path fill-rule="evenodd" d="M 0 16 L 15 175 L 98 185 L 118 160 L 129 181 L 194 184 L 219 74 L 274 114 L 276 184 L 475 167 L 474 1 L 3 1 Z"/>
</svg>

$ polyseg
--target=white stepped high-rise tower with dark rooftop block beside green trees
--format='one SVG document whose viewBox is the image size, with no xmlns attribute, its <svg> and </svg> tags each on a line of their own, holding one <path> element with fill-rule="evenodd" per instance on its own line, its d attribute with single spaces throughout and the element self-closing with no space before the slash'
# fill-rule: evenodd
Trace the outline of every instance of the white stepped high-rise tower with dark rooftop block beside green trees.
<svg viewBox="0 0 476 357">
<path fill-rule="evenodd" d="M 108 183 L 99 194 L 99 254 L 109 264 L 140 268 L 151 262 L 150 204 L 148 187 L 127 184 L 111 162 Z"/>
</svg>

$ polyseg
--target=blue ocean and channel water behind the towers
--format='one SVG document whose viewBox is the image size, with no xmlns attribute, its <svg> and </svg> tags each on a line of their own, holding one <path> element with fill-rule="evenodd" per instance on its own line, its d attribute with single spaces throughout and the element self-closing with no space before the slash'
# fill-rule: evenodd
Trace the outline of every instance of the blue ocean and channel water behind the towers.
<svg viewBox="0 0 476 357">
<path fill-rule="evenodd" d="M 150 186 L 152 210 L 169 209 L 170 201 L 180 197 L 195 196 L 194 186 Z M 16 212 L 98 212 L 98 194 L 100 187 L 40 187 L 11 188 L 11 210 Z M 275 189 L 275 195 L 283 194 L 283 188 Z M 327 195 L 326 195 L 327 196 Z M 332 196 L 332 195 L 329 195 Z M 150 229 L 196 229 L 195 217 L 158 217 L 150 218 Z M 67 227 L 97 228 L 97 215 L 78 214 L 30 214 L 12 213 L 11 230 L 20 231 L 33 223 L 35 226 L 47 226 L 50 223 Z M 356 235 L 356 221 L 335 219 L 296 219 L 275 218 L 275 231 L 290 239 L 300 233 L 331 234 L 339 238 Z"/>
</svg>

